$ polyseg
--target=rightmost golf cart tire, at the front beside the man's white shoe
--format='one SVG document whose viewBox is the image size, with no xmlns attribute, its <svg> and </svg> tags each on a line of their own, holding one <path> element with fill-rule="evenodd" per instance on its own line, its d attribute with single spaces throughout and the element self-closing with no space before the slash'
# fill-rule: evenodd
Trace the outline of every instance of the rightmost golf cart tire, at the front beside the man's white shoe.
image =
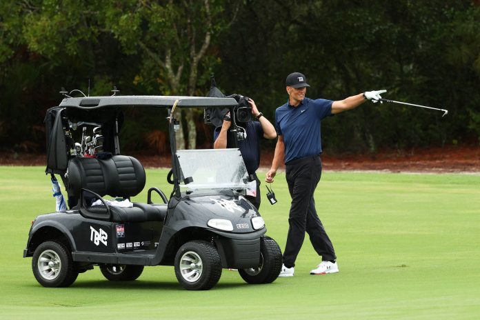
<svg viewBox="0 0 480 320">
<path fill-rule="evenodd" d="M 281 250 L 270 237 L 260 239 L 261 265 L 257 268 L 239 269 L 239 274 L 247 283 L 272 283 L 281 271 Z"/>
</svg>

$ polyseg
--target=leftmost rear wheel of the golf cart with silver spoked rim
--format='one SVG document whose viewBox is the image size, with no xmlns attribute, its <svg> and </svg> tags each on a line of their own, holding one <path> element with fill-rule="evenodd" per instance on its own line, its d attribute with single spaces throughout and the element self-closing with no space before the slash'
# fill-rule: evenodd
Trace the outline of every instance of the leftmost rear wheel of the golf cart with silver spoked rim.
<svg viewBox="0 0 480 320">
<path fill-rule="evenodd" d="M 68 287 L 79 276 L 70 250 L 58 241 L 46 241 L 35 249 L 32 258 L 35 279 L 47 288 Z"/>
</svg>

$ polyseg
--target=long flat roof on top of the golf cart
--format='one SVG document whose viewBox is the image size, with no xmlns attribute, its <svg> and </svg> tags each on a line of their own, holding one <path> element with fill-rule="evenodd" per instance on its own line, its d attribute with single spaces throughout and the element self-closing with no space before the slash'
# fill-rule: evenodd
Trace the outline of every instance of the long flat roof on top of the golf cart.
<svg viewBox="0 0 480 320">
<path fill-rule="evenodd" d="M 183 96 L 108 96 L 65 98 L 59 107 L 97 109 L 122 106 L 148 106 L 172 108 L 178 100 L 178 108 L 230 108 L 238 103 L 233 98 L 183 97 Z"/>
</svg>

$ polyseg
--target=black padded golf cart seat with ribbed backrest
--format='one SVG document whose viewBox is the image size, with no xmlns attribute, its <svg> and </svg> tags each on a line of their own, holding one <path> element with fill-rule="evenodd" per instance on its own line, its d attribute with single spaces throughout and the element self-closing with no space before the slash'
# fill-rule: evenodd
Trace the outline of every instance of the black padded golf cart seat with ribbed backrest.
<svg viewBox="0 0 480 320">
<path fill-rule="evenodd" d="M 143 190 L 145 170 L 134 157 L 115 155 L 110 159 L 77 157 L 68 163 L 68 188 L 79 196 L 77 207 L 92 219 L 113 222 L 163 221 L 167 205 L 133 203 L 133 207 L 109 206 L 102 197 L 130 199 Z M 92 206 L 101 200 L 103 205 Z"/>
</svg>

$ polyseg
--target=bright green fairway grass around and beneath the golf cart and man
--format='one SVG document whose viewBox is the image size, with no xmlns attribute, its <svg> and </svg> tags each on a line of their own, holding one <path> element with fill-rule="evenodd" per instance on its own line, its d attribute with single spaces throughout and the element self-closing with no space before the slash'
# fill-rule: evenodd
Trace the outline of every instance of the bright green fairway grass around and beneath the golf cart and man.
<svg viewBox="0 0 480 320">
<path fill-rule="evenodd" d="M 212 290 L 191 292 L 172 267 L 146 267 L 130 283 L 107 281 L 95 267 L 69 288 L 41 287 L 22 254 L 31 221 L 54 211 L 43 170 L 0 167 L 0 319 L 480 318 L 479 175 L 323 172 L 315 201 L 339 273 L 309 274 L 321 259 L 307 235 L 292 278 L 249 285 L 223 270 Z M 146 187 L 170 194 L 167 172 L 147 170 Z M 274 206 L 264 185 L 260 212 L 283 250 L 285 176 L 272 184 Z M 146 192 L 135 200 L 146 202 Z"/>
</svg>

